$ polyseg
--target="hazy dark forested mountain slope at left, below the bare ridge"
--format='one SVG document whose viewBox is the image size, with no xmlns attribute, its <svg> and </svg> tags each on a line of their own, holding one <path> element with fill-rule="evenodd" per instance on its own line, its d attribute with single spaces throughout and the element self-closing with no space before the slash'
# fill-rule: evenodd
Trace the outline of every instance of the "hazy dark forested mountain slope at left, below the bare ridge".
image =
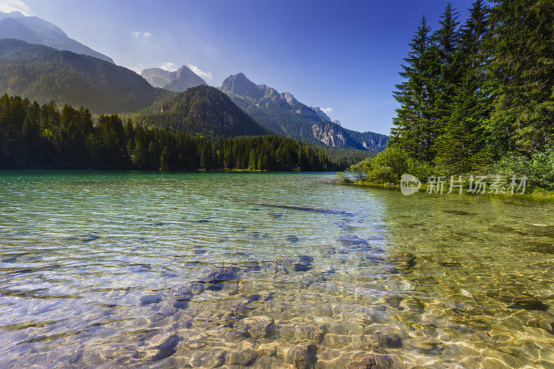
<svg viewBox="0 0 554 369">
<path fill-rule="evenodd" d="M 96 57 L 0 39 L 0 93 L 41 103 L 66 102 L 101 114 L 144 109 L 163 90 L 134 71 Z"/>
</svg>

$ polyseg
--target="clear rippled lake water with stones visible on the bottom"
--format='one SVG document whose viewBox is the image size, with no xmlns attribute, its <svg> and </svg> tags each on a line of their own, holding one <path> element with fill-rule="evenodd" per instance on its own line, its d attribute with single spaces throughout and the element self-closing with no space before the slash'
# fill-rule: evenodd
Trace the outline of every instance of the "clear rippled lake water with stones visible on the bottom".
<svg viewBox="0 0 554 369">
<path fill-rule="evenodd" d="M 554 368 L 553 204 L 0 172 L 0 367 Z"/>
</svg>

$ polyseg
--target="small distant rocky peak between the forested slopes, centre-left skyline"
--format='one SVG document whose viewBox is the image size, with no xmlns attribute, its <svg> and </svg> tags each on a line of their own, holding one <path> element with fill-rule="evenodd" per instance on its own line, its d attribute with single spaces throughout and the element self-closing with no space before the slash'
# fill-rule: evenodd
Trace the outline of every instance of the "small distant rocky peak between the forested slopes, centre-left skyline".
<svg viewBox="0 0 554 369">
<path fill-rule="evenodd" d="M 207 84 L 206 81 L 191 71 L 186 65 L 181 66 L 175 72 L 166 71 L 161 68 L 149 68 L 143 70 L 141 76 L 154 87 L 163 87 L 175 92 L 184 92 L 190 89 L 190 87 Z"/>
</svg>

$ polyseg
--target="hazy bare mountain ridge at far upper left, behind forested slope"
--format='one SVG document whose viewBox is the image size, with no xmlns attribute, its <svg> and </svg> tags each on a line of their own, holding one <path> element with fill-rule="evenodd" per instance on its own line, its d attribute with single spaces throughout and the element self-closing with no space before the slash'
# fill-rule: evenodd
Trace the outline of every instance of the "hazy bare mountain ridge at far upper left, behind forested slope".
<svg viewBox="0 0 554 369">
<path fill-rule="evenodd" d="M 110 57 L 94 51 L 80 42 L 70 39 L 59 27 L 39 17 L 26 17 L 21 12 L 0 12 L 0 39 L 21 39 L 30 44 L 39 44 L 90 55 L 113 63 Z"/>
</svg>

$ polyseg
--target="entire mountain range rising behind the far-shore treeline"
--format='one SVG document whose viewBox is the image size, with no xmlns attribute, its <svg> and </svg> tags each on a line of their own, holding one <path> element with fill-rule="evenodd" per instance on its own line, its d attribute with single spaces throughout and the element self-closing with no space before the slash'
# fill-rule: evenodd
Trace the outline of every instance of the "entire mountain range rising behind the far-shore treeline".
<svg viewBox="0 0 554 369">
<path fill-rule="evenodd" d="M 186 65 L 173 72 L 145 69 L 138 75 L 69 39 L 50 22 L 19 12 L 0 12 L 0 93 L 84 106 L 96 114 L 127 112 L 123 115 L 137 124 L 189 134 L 273 133 L 364 152 L 384 150 L 388 140 L 383 134 L 341 127 L 323 109 L 255 84 L 244 73 L 229 75 L 219 89 L 208 87 Z"/>
</svg>

